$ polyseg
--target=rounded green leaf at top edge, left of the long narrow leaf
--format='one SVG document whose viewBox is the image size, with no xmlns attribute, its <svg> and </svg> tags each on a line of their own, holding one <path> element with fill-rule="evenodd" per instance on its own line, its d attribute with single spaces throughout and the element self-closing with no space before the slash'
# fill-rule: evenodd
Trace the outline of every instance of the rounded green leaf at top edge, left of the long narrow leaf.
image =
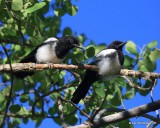
<svg viewBox="0 0 160 128">
<path fill-rule="evenodd" d="M 23 8 L 23 0 L 13 0 L 12 9 L 15 11 L 21 10 Z"/>
</svg>

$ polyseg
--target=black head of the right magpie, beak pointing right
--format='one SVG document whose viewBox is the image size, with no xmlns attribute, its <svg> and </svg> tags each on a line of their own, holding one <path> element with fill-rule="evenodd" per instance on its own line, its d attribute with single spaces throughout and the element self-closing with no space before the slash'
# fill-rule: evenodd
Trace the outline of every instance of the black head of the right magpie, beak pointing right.
<svg viewBox="0 0 160 128">
<path fill-rule="evenodd" d="M 116 49 L 116 50 L 120 50 L 122 51 L 123 46 L 126 44 L 127 42 L 121 42 L 121 41 L 113 41 L 108 48 L 110 49 Z"/>
</svg>

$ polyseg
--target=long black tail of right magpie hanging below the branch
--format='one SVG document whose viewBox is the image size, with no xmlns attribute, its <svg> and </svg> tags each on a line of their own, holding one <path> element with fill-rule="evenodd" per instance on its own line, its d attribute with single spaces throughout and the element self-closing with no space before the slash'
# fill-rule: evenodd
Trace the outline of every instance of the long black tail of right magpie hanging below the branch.
<svg viewBox="0 0 160 128">
<path fill-rule="evenodd" d="M 98 73 L 95 71 L 86 71 L 84 80 L 80 83 L 76 91 L 74 92 L 71 101 L 75 104 L 78 104 L 81 99 L 87 95 L 87 92 L 90 86 L 97 81 Z"/>
</svg>

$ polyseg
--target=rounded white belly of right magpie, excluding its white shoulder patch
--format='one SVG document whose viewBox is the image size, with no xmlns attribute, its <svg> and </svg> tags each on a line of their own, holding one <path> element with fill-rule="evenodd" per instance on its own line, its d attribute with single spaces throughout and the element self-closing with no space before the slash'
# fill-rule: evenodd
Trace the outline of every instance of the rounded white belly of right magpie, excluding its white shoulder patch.
<svg viewBox="0 0 160 128">
<path fill-rule="evenodd" d="M 121 70 L 121 65 L 119 64 L 118 57 L 104 58 L 98 63 L 98 67 L 98 73 L 99 75 L 103 76 L 104 80 L 115 78 Z"/>
</svg>

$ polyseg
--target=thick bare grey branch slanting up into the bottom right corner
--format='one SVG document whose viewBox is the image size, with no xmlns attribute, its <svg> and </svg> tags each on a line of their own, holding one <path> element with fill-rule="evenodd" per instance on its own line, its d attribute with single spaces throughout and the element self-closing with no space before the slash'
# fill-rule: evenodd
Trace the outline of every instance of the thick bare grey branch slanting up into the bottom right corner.
<svg viewBox="0 0 160 128">
<path fill-rule="evenodd" d="M 141 106 L 132 108 L 130 110 L 126 110 L 126 111 L 123 111 L 123 112 L 119 112 L 119 113 L 116 113 L 116 114 L 112 114 L 112 115 L 109 115 L 109 116 L 102 117 L 98 120 L 95 120 L 94 124 L 95 124 L 96 127 L 100 127 L 102 125 L 108 125 L 108 124 L 111 124 L 111 123 L 126 120 L 126 119 L 129 119 L 131 117 L 141 116 L 141 115 L 143 115 L 147 112 L 155 111 L 159 108 L 160 108 L 160 100 L 157 100 L 155 102 L 145 104 L 145 105 L 141 105 Z"/>
</svg>

